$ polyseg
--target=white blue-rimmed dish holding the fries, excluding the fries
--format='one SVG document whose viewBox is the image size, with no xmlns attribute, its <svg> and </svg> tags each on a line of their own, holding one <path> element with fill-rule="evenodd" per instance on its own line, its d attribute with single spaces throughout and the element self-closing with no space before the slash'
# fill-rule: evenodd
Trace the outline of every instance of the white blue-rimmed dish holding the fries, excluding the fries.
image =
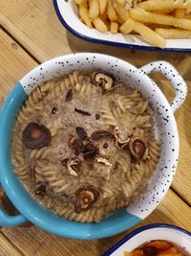
<svg viewBox="0 0 191 256">
<path fill-rule="evenodd" d="M 122 35 L 120 33 L 111 35 L 110 33 L 100 33 L 96 29 L 89 29 L 79 20 L 77 7 L 73 0 L 53 0 L 53 4 L 61 23 L 81 39 L 144 51 L 191 52 L 191 39 L 167 40 L 166 47 L 159 49 L 143 41 L 140 35 Z"/>
</svg>

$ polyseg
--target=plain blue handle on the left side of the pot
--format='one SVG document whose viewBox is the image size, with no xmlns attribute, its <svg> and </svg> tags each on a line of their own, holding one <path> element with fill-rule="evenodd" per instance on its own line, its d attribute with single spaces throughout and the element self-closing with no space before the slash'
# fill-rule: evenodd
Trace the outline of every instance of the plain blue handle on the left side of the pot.
<svg viewBox="0 0 191 256">
<path fill-rule="evenodd" d="M 23 215 L 19 214 L 17 216 L 10 216 L 10 215 L 7 215 L 0 208 L 0 226 L 15 226 L 15 225 L 23 224 L 26 221 L 28 220 Z"/>
</svg>

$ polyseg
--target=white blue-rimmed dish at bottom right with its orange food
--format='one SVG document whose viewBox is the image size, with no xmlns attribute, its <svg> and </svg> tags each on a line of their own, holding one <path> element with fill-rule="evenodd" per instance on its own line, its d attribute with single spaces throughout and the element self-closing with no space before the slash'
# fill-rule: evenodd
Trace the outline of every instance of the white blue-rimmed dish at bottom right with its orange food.
<svg viewBox="0 0 191 256">
<path fill-rule="evenodd" d="M 191 233 L 171 224 L 139 227 L 103 256 L 189 256 Z"/>
</svg>

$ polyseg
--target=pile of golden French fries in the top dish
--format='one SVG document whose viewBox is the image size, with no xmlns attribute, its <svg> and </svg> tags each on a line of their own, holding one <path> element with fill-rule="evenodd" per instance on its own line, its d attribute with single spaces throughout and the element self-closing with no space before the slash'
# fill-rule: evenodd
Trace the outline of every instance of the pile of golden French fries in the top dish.
<svg viewBox="0 0 191 256">
<path fill-rule="evenodd" d="M 191 38 L 191 0 L 74 0 L 89 28 L 138 34 L 164 48 L 165 39 Z"/>
</svg>

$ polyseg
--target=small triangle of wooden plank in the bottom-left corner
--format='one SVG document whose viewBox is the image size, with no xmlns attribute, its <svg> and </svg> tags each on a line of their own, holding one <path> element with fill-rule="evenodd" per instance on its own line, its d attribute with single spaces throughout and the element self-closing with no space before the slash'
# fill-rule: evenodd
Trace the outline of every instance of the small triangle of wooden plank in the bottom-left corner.
<svg viewBox="0 0 191 256">
<path fill-rule="evenodd" d="M 24 255 L 19 251 L 11 242 L 0 232 L 0 255 L 4 256 L 22 256 Z"/>
</svg>

